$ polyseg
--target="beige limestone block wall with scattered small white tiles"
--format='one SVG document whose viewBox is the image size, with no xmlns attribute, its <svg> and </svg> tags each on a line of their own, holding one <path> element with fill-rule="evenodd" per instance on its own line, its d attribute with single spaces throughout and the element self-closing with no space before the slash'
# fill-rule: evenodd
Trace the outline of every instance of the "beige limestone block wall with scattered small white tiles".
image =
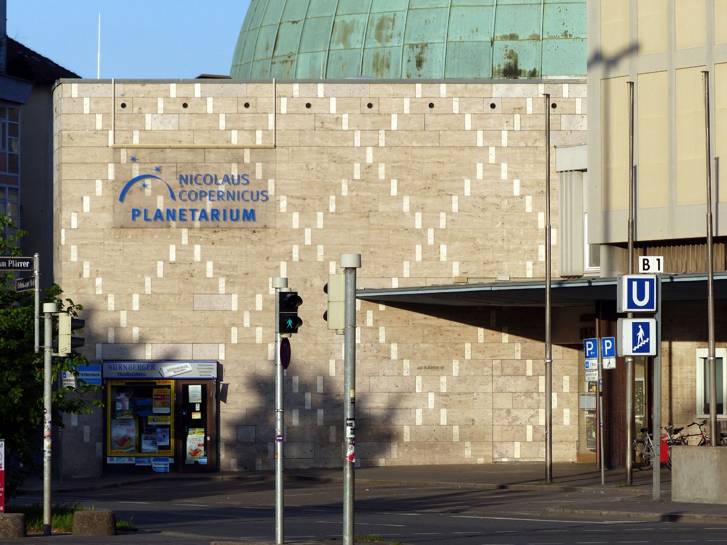
<svg viewBox="0 0 727 545">
<path fill-rule="evenodd" d="M 552 145 L 584 143 L 585 81 L 61 81 L 55 281 L 84 305 L 84 354 L 217 360 L 220 469 L 271 469 L 271 278 L 286 277 L 304 321 L 284 383 L 286 467 L 340 465 L 327 275 L 360 253 L 359 288 L 544 278 L 544 92 Z M 242 220 L 214 217 L 220 187 Z M 202 204 L 202 190 L 222 199 Z M 188 215 L 153 217 L 172 204 Z M 545 459 L 542 314 L 359 301 L 357 321 L 358 464 Z M 553 347 L 558 461 L 577 459 L 578 351 Z M 102 471 L 104 421 L 68 422 L 67 473 Z"/>
</svg>

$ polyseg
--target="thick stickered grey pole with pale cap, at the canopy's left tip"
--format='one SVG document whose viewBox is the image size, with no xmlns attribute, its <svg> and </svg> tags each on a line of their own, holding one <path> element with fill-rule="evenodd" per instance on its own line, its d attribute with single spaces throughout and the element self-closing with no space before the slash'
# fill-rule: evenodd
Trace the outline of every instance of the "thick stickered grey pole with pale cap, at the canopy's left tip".
<svg viewBox="0 0 727 545">
<path fill-rule="evenodd" d="M 356 447 L 356 269 L 361 267 L 361 254 L 341 254 L 341 267 L 345 272 L 345 331 L 343 339 L 343 545 L 353 545 L 353 503 Z"/>
</svg>

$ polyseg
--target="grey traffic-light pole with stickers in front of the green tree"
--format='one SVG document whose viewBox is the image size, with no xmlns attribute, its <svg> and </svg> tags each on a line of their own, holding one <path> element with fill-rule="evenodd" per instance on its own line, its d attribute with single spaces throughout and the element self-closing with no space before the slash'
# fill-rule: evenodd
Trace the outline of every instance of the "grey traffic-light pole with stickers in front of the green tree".
<svg viewBox="0 0 727 545">
<path fill-rule="evenodd" d="M 50 536 L 50 493 L 51 493 L 51 386 L 53 352 L 53 314 L 58 312 L 55 303 L 44 303 L 44 343 L 43 343 L 43 535 Z"/>
</svg>

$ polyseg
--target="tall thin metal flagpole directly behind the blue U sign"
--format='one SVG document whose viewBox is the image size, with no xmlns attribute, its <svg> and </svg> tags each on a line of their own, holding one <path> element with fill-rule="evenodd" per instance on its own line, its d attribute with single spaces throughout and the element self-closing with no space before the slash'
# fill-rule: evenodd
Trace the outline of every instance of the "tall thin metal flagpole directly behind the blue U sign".
<svg viewBox="0 0 727 545">
<path fill-rule="evenodd" d="M 633 274 L 634 270 L 634 82 L 627 81 L 629 89 L 629 246 L 626 270 Z M 633 318 L 633 313 L 627 313 Z M 631 443 L 633 443 L 634 427 L 634 358 L 626 357 L 626 484 L 633 484 L 633 459 L 631 456 Z"/>
</svg>

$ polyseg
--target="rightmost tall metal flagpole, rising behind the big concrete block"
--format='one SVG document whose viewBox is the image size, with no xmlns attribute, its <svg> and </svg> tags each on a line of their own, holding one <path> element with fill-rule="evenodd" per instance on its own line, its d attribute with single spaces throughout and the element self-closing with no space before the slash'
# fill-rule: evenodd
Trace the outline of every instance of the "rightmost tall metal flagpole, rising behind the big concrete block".
<svg viewBox="0 0 727 545">
<path fill-rule="evenodd" d="M 712 257 L 712 150 L 710 147 L 710 73 L 702 70 L 704 81 L 704 141 L 707 147 L 707 331 L 710 362 L 710 439 L 712 446 L 717 440 L 717 360 L 715 358 L 715 262 Z"/>
</svg>

